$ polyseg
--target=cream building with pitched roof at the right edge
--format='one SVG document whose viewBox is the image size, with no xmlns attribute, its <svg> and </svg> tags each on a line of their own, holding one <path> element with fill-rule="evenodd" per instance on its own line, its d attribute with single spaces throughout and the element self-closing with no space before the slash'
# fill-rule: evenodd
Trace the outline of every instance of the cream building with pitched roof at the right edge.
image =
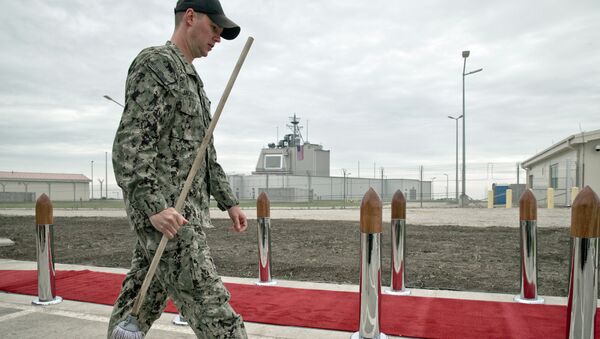
<svg viewBox="0 0 600 339">
<path fill-rule="evenodd" d="M 600 194 L 600 130 L 573 134 L 525 160 L 527 187 L 538 201 L 554 188 L 554 201 L 569 206 L 571 187 L 590 186 Z"/>
</svg>

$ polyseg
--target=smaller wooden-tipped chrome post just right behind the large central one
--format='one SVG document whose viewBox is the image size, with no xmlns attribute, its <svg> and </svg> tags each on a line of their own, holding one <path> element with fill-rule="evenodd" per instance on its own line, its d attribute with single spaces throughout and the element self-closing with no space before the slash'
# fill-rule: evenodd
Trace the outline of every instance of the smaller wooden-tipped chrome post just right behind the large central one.
<svg viewBox="0 0 600 339">
<path fill-rule="evenodd" d="M 397 190 L 392 198 L 392 276 L 390 287 L 383 293 L 392 295 L 410 295 L 404 285 L 406 270 L 406 199 L 402 191 Z"/>
</svg>

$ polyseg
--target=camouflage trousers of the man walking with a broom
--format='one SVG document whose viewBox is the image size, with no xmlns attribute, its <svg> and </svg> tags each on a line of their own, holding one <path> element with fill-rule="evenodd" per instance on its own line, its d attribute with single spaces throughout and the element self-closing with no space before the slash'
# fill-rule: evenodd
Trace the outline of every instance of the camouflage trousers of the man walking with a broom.
<svg viewBox="0 0 600 339">
<path fill-rule="evenodd" d="M 131 313 L 162 238 L 148 225 L 136 227 L 136 233 L 131 269 L 113 307 L 108 338 L 113 328 Z M 200 226 L 184 225 L 168 242 L 137 317 L 144 334 L 160 317 L 167 297 L 171 297 L 198 338 L 247 338 L 242 317 L 229 305 L 229 291 L 217 275 Z"/>
</svg>

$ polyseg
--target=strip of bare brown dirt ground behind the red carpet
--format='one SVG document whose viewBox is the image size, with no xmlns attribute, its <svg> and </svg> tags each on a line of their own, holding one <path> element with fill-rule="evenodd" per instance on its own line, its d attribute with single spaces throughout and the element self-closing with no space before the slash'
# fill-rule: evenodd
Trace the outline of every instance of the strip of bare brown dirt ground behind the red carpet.
<svg viewBox="0 0 600 339">
<path fill-rule="evenodd" d="M 213 220 L 206 229 L 213 259 L 224 276 L 258 277 L 256 221 L 248 232 Z M 0 237 L 16 245 L 0 247 L 0 258 L 36 260 L 32 217 L 0 216 Z M 129 267 L 135 237 L 125 218 L 57 217 L 56 263 Z M 358 222 L 272 220 L 274 279 L 359 283 Z M 389 223 L 382 234 L 382 284 L 390 279 Z M 538 293 L 566 296 L 568 228 L 538 229 Z M 519 233 L 509 227 L 407 226 L 406 285 L 461 291 L 519 293 Z"/>
</svg>

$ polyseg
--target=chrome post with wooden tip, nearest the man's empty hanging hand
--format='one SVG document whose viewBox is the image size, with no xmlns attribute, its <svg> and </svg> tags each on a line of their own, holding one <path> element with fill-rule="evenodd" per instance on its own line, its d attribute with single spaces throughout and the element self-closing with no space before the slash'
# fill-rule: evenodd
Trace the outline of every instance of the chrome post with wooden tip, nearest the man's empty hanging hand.
<svg viewBox="0 0 600 339">
<path fill-rule="evenodd" d="M 258 221 L 258 281 L 259 286 L 276 285 L 271 279 L 271 203 L 267 193 L 262 192 L 256 200 Z"/>
</svg>

